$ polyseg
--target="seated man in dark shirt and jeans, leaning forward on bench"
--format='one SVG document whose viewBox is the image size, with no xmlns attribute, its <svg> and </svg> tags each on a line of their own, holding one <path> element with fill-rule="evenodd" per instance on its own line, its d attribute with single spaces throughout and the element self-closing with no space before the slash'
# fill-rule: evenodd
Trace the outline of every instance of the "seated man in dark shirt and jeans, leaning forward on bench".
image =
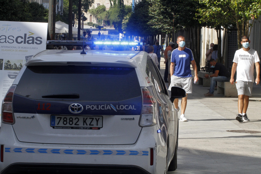
<svg viewBox="0 0 261 174">
<path fill-rule="evenodd" d="M 209 92 L 204 94 L 204 96 L 213 97 L 216 81 L 220 81 L 220 82 L 229 81 L 230 73 L 228 72 L 228 70 L 223 64 L 216 62 L 215 59 L 210 59 L 209 64 L 211 68 L 213 68 L 213 74 L 212 75 L 205 74 L 204 76 L 207 79 L 212 77 Z"/>
</svg>

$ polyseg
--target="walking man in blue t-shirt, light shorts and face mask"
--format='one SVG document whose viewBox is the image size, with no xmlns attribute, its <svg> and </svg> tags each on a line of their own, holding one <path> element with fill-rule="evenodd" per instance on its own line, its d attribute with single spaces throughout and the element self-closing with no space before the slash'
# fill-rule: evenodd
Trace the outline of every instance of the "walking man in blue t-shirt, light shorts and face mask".
<svg viewBox="0 0 261 174">
<path fill-rule="evenodd" d="M 188 93 L 192 93 L 192 75 L 190 69 L 190 63 L 194 70 L 194 82 L 198 81 L 197 77 L 197 65 L 193 58 L 192 51 L 185 46 L 185 37 L 178 36 L 177 37 L 177 44 L 179 47 L 172 51 L 171 53 L 171 65 L 170 65 L 170 74 L 171 74 L 171 84 L 168 90 L 171 90 L 172 86 L 178 86 L 183 88 Z M 185 118 L 185 110 L 187 106 L 187 96 L 183 97 L 181 100 L 181 115 L 180 121 L 186 122 L 188 121 Z M 178 106 L 179 99 L 175 99 L 173 104 L 177 112 L 180 110 Z"/>
</svg>

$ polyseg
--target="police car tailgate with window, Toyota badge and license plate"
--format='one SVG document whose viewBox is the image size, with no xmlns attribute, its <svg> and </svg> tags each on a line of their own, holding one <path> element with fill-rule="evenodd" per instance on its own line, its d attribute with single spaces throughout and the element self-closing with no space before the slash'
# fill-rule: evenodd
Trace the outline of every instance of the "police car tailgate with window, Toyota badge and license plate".
<svg viewBox="0 0 261 174">
<path fill-rule="evenodd" d="M 13 98 L 21 142 L 134 144 L 141 127 L 135 68 L 28 66 Z"/>
</svg>

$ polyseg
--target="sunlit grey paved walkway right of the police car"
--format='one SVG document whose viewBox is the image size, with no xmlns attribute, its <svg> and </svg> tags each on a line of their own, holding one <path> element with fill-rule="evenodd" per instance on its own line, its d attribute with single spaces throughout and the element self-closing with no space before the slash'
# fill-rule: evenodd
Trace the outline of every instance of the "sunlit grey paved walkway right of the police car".
<svg viewBox="0 0 261 174">
<path fill-rule="evenodd" d="M 205 97 L 208 90 L 193 84 L 185 112 L 188 122 L 179 121 L 178 167 L 169 173 L 261 173 L 261 86 L 254 84 L 247 110 L 251 121 L 242 123 L 235 120 L 237 97 L 224 97 L 216 90 L 214 97 Z M 251 131 L 260 133 L 245 133 Z"/>
</svg>

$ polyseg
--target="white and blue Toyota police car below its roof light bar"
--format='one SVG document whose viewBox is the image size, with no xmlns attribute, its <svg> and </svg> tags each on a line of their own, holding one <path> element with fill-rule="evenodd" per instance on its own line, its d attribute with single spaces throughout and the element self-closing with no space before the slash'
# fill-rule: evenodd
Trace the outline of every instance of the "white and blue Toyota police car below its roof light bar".
<svg viewBox="0 0 261 174">
<path fill-rule="evenodd" d="M 167 173 L 185 91 L 143 51 L 44 50 L 2 103 L 0 173 Z"/>
</svg>

